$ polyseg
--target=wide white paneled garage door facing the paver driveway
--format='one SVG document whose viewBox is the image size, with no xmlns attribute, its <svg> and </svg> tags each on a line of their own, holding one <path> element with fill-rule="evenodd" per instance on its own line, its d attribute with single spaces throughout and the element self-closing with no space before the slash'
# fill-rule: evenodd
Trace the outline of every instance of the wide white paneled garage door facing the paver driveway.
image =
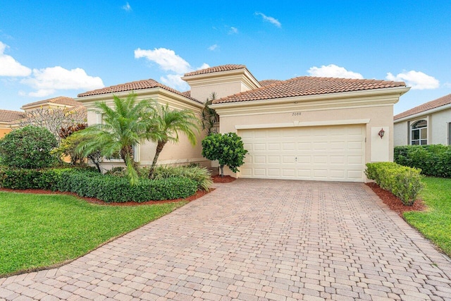
<svg viewBox="0 0 451 301">
<path fill-rule="evenodd" d="M 242 178 L 363 182 L 363 125 L 239 130 Z"/>
</svg>

